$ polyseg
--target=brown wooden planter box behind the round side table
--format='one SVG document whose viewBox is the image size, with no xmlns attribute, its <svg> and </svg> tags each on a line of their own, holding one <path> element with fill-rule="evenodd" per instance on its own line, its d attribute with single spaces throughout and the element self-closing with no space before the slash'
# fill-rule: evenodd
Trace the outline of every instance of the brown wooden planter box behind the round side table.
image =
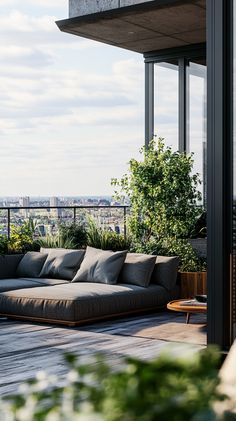
<svg viewBox="0 0 236 421">
<path fill-rule="evenodd" d="M 180 298 L 207 294 L 207 272 L 179 272 Z"/>
</svg>

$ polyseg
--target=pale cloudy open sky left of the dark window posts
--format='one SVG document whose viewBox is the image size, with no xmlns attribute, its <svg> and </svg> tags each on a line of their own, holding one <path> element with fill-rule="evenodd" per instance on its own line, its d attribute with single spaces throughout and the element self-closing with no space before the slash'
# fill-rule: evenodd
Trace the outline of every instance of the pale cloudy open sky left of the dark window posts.
<svg viewBox="0 0 236 421">
<path fill-rule="evenodd" d="M 0 196 L 110 195 L 144 144 L 144 64 L 59 31 L 68 0 L 0 0 Z"/>
</svg>

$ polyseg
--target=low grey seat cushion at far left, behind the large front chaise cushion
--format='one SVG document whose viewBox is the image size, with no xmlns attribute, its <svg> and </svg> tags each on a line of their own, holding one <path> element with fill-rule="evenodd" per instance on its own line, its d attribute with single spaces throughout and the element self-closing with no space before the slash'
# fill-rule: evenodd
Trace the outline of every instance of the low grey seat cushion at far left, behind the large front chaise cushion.
<svg viewBox="0 0 236 421">
<path fill-rule="evenodd" d="M 0 279 L 0 293 L 24 288 L 36 288 L 39 286 L 50 286 L 69 283 L 62 279 L 43 279 L 43 278 L 7 278 Z"/>
</svg>

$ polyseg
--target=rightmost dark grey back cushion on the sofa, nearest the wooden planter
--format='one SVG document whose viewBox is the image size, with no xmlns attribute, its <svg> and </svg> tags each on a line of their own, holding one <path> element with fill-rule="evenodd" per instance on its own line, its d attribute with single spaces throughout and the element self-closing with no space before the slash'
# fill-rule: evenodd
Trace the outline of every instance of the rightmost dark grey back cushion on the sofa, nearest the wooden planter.
<svg viewBox="0 0 236 421">
<path fill-rule="evenodd" d="M 171 291 L 176 285 L 178 265 L 178 256 L 156 256 L 151 283 L 162 285 L 168 291 Z"/>
</svg>

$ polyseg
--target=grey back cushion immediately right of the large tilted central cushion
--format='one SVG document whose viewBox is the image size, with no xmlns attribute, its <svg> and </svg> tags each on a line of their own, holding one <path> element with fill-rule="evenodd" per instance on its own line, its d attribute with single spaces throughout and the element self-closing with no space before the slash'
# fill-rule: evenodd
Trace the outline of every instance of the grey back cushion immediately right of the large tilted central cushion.
<svg viewBox="0 0 236 421">
<path fill-rule="evenodd" d="M 147 288 L 156 263 L 156 256 L 127 253 L 118 282 Z"/>
</svg>

